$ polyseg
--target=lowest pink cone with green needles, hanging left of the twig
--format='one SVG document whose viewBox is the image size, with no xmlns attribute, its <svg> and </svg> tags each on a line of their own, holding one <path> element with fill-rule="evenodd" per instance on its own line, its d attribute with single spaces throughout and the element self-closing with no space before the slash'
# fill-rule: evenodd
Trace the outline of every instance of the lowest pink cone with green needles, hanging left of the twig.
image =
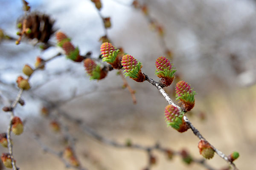
<svg viewBox="0 0 256 170">
<path fill-rule="evenodd" d="M 189 129 L 188 125 L 183 119 L 184 113 L 181 112 L 174 105 L 168 105 L 165 108 L 166 123 L 172 126 L 178 132 L 182 133 Z"/>
</svg>

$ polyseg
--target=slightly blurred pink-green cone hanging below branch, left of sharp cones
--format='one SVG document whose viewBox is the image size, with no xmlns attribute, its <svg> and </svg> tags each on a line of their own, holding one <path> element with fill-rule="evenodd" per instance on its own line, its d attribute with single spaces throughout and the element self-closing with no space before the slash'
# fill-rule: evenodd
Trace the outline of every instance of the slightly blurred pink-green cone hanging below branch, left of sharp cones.
<svg viewBox="0 0 256 170">
<path fill-rule="evenodd" d="M 107 76 L 108 72 L 103 70 L 99 64 L 96 64 L 93 59 L 87 58 L 84 59 L 84 67 L 89 74 L 90 79 L 103 79 Z"/>
</svg>

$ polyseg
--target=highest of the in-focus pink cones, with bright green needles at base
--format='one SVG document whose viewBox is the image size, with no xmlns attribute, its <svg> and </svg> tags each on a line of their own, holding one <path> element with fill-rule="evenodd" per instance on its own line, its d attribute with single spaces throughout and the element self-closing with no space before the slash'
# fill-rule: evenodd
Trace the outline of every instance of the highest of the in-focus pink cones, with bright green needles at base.
<svg viewBox="0 0 256 170">
<path fill-rule="evenodd" d="M 102 43 L 100 47 L 102 61 L 108 62 L 115 69 L 121 69 L 121 58 L 119 55 L 120 50 L 114 47 L 110 42 Z"/>
</svg>

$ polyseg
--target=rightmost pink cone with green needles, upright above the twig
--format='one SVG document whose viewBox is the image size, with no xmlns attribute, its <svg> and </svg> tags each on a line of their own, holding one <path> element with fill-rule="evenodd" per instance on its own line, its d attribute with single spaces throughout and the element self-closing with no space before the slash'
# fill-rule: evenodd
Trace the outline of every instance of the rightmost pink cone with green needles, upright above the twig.
<svg viewBox="0 0 256 170">
<path fill-rule="evenodd" d="M 176 84 L 176 100 L 180 99 L 181 102 L 183 102 L 182 107 L 186 111 L 190 111 L 195 106 L 195 91 L 193 91 L 193 88 L 190 87 L 190 85 L 187 82 L 179 81 Z"/>
</svg>

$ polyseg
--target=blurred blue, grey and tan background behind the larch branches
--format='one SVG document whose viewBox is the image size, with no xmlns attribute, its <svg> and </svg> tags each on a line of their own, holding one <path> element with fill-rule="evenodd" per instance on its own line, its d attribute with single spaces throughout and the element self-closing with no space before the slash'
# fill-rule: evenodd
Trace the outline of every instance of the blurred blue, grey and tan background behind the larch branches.
<svg viewBox="0 0 256 170">
<path fill-rule="evenodd" d="M 49 14 L 55 30 L 61 30 L 79 46 L 81 54 L 92 52 L 99 57 L 100 37 L 105 35 L 102 19 L 90 0 L 28 0 L 32 11 Z M 171 51 L 169 59 L 180 79 L 189 82 L 198 93 L 195 108 L 187 113 L 201 134 L 226 155 L 238 151 L 235 161 L 240 170 L 256 170 L 256 1 L 255 0 L 140 0 L 148 14 L 163 27 L 164 36 L 152 28 L 143 11 L 131 6 L 132 0 L 102 0 L 101 14 L 111 17 L 108 38 L 143 63 L 143 72 L 154 75 L 155 59 Z M 17 37 L 17 19 L 23 14 L 21 0 L 0 0 L 0 29 Z M 55 43 L 55 37 L 49 40 Z M 164 41 L 164 44 L 163 44 Z M 166 45 L 166 47 L 164 47 Z M 17 76 L 23 65 L 34 65 L 35 58 L 49 58 L 59 48 L 41 51 L 31 41 L 0 42 L 0 105 L 17 95 Z M 26 105 L 18 106 L 15 115 L 26 121 L 24 133 L 14 136 L 14 156 L 20 170 L 63 170 L 56 156 L 44 153 L 33 136 L 50 147 L 61 150 L 61 133 L 53 133 L 49 119 L 41 116 L 41 108 L 49 103 L 80 119 L 108 139 L 125 143 L 128 139 L 144 146 L 159 142 L 161 146 L 179 151 L 183 148 L 195 158 L 198 138 L 191 130 L 178 133 L 166 127 L 166 100 L 148 82 L 137 83 L 126 78 L 136 91 L 134 105 L 122 79 L 110 71 L 100 81 L 90 81 L 81 63 L 58 57 L 47 63 L 45 70 L 33 74 L 31 90 L 24 92 Z M 171 85 L 165 90 L 173 96 Z M 48 102 L 47 102 L 48 101 Z M 62 101 L 62 102 L 61 102 Z M 65 101 L 65 102 L 63 102 Z M 54 113 L 52 113 L 54 114 Z M 9 114 L 0 111 L 0 133 L 6 132 Z M 85 134 L 79 125 L 67 119 L 70 133 L 76 138 L 79 161 L 90 170 L 142 170 L 147 154 L 141 150 L 115 148 Z M 0 152 L 8 150 L 0 147 Z M 200 164 L 187 165 L 179 156 L 172 160 L 153 152 L 157 163 L 152 170 L 205 170 Z M 96 163 L 95 163 L 96 162 Z M 215 169 L 227 163 L 215 154 L 207 161 Z M 4 168 L 3 168 L 4 169 Z"/>
</svg>

